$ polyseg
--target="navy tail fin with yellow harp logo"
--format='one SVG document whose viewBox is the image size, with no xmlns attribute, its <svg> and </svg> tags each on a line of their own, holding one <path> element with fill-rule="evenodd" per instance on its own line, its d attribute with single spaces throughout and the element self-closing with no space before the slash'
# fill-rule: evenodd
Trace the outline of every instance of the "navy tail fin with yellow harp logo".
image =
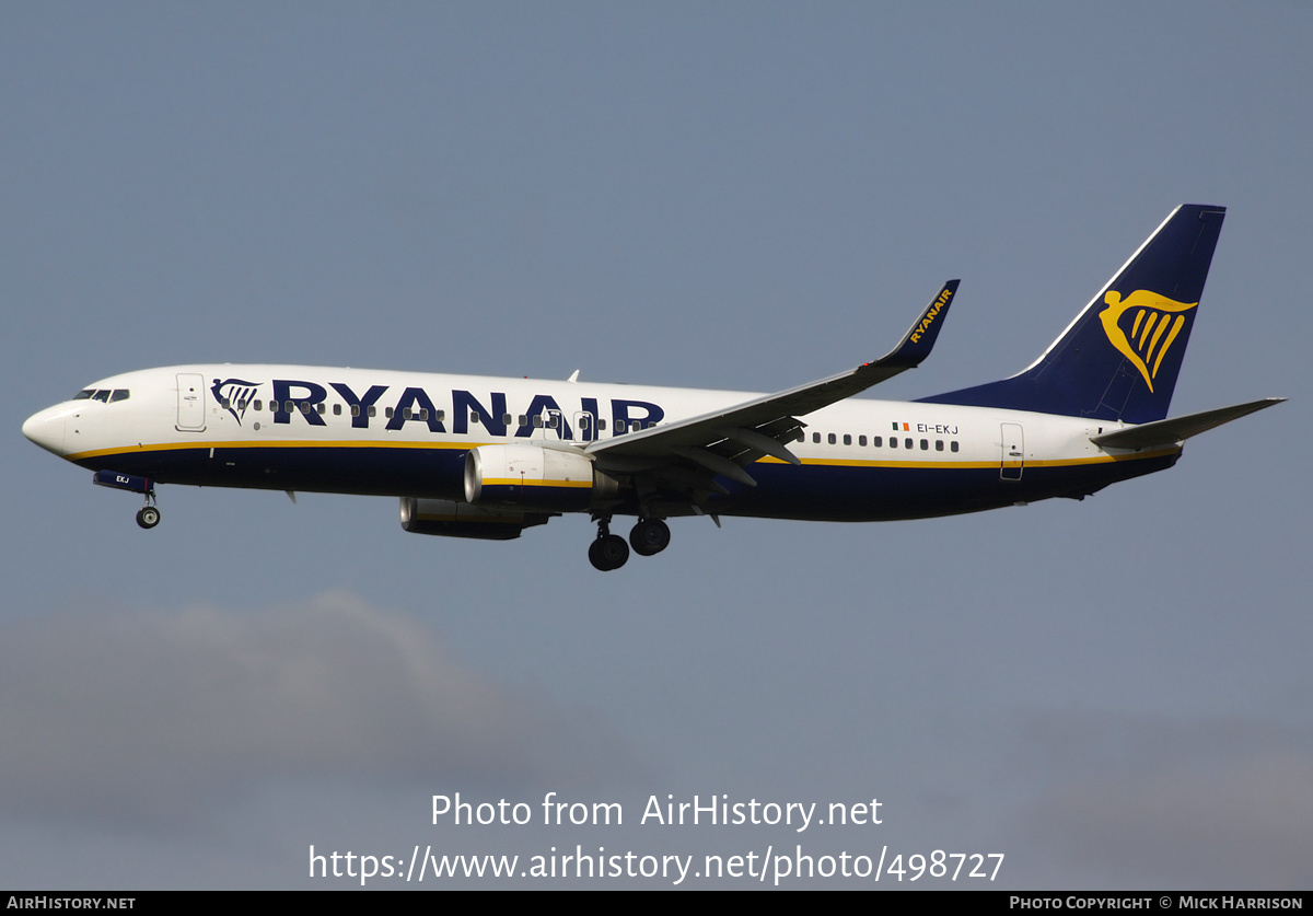
<svg viewBox="0 0 1313 916">
<path fill-rule="evenodd" d="M 922 400 L 1134 424 L 1162 420 L 1225 215 L 1225 207 L 1176 207 L 1031 366 Z"/>
</svg>

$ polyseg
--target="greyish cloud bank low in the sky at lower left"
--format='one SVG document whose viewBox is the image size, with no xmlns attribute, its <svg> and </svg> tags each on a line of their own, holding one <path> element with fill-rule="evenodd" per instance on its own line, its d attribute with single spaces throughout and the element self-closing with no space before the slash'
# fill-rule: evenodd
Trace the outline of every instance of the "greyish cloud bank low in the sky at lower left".
<svg viewBox="0 0 1313 916">
<path fill-rule="evenodd" d="M 66 613 L 0 634 L 0 804 L 173 820 L 268 778 L 571 781 L 611 730 L 454 661 L 344 593 L 257 613 Z"/>
</svg>

